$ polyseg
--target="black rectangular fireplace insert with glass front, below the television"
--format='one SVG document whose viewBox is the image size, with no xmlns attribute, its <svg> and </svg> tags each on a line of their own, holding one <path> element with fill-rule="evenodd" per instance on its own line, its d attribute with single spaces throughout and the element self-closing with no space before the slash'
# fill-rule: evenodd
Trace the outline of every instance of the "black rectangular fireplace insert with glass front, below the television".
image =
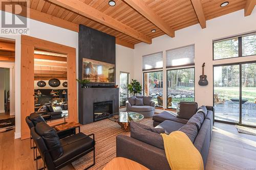
<svg viewBox="0 0 256 170">
<path fill-rule="evenodd" d="M 93 122 L 109 117 L 113 113 L 113 101 L 93 103 Z"/>
</svg>

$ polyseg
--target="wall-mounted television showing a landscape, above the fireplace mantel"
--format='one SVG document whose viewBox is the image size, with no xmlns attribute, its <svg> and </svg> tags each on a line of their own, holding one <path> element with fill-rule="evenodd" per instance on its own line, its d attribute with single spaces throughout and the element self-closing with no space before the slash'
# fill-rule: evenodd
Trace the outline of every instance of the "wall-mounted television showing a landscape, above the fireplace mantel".
<svg viewBox="0 0 256 170">
<path fill-rule="evenodd" d="M 95 83 L 115 83 L 115 64 L 83 58 L 82 79 Z"/>
</svg>

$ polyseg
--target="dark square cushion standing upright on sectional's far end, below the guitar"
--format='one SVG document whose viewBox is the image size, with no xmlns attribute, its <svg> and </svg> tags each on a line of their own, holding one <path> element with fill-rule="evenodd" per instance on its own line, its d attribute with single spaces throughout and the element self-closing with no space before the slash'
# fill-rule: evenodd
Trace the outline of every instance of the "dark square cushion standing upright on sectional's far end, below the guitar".
<svg viewBox="0 0 256 170">
<path fill-rule="evenodd" d="M 177 106 L 177 117 L 189 119 L 197 112 L 196 102 L 180 102 Z"/>
</svg>

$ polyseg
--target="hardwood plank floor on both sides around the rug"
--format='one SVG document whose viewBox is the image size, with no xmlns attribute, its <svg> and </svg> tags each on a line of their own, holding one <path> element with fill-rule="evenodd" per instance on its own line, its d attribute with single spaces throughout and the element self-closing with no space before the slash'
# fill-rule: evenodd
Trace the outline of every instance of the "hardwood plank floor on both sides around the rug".
<svg viewBox="0 0 256 170">
<path fill-rule="evenodd" d="M 215 123 L 208 169 L 256 169 L 256 136 L 238 133 L 233 125 Z M 97 162 L 96 162 L 97 163 Z M 39 165 L 41 167 L 41 164 Z M 36 169 L 29 139 L 14 139 L 14 130 L 0 133 L 0 170 Z M 67 166 L 62 170 L 74 169 Z"/>
</svg>

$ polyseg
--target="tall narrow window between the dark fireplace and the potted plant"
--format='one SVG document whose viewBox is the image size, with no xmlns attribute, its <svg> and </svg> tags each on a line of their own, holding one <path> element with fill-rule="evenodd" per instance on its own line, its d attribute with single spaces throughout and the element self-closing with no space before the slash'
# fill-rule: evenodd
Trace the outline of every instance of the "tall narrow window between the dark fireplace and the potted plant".
<svg viewBox="0 0 256 170">
<path fill-rule="evenodd" d="M 129 84 L 129 73 L 127 72 L 120 72 L 120 106 L 125 106 L 125 102 L 127 101 L 128 97 L 128 84 Z"/>
</svg>

